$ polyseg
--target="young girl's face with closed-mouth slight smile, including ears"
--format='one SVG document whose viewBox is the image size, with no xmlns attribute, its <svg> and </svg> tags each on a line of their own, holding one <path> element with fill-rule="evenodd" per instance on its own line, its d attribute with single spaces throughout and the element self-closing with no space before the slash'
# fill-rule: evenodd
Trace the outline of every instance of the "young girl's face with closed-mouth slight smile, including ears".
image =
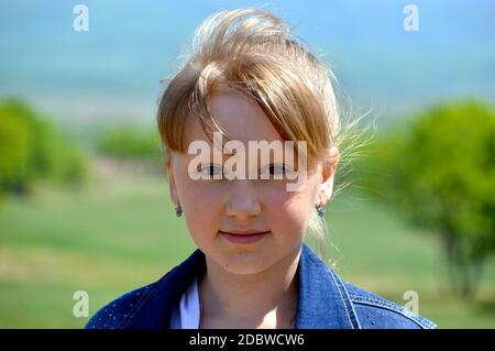
<svg viewBox="0 0 495 351">
<path fill-rule="evenodd" d="M 249 141 L 284 142 L 249 96 L 237 91 L 216 92 L 209 99 L 209 109 L 229 139 L 244 145 L 246 160 Z M 184 132 L 186 147 L 195 141 L 205 141 L 213 149 L 197 119 L 189 116 Z M 326 204 L 331 195 L 334 168 L 323 172 L 321 163 L 308 172 L 306 183 L 297 191 L 288 191 L 287 179 L 249 179 L 248 176 L 232 180 L 193 179 L 188 167 L 195 157 L 197 154 L 172 153 L 167 162 L 170 196 L 175 204 L 180 204 L 196 245 L 209 260 L 232 273 L 258 273 L 294 256 L 315 207 Z M 230 155 L 224 155 L 223 162 L 229 158 Z M 206 173 L 221 169 L 215 166 L 213 157 L 207 157 L 205 163 L 213 165 L 208 168 L 205 164 Z M 245 169 L 252 167 L 257 172 L 274 171 L 270 164 L 246 163 Z M 266 233 L 256 241 L 240 243 L 226 234 L 233 231 Z"/>
</svg>

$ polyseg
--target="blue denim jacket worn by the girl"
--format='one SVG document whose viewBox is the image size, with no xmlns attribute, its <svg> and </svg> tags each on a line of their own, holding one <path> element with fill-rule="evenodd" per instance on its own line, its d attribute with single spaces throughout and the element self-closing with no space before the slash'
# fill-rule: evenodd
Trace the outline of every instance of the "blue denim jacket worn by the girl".
<svg viewBox="0 0 495 351">
<path fill-rule="evenodd" d="M 193 279 L 205 273 L 205 254 L 198 249 L 157 282 L 127 293 L 101 308 L 86 328 L 167 329 L 174 306 Z M 302 243 L 296 276 L 299 298 L 295 329 L 437 327 L 406 307 L 343 282 L 306 243 Z"/>
</svg>

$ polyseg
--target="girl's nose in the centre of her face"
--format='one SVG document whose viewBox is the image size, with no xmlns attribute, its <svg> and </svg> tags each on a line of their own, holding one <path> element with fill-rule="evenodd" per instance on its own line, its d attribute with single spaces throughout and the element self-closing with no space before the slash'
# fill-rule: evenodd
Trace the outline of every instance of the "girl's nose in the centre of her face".
<svg viewBox="0 0 495 351">
<path fill-rule="evenodd" d="M 253 180 L 230 180 L 227 215 L 240 220 L 250 219 L 261 213 L 261 202 Z"/>
</svg>

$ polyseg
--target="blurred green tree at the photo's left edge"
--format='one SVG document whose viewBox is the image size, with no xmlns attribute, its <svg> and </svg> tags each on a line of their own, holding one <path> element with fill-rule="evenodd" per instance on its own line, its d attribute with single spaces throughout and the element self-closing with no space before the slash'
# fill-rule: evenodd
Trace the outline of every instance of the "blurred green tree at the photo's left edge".
<svg viewBox="0 0 495 351">
<path fill-rule="evenodd" d="M 0 193 L 26 194 L 37 180 L 78 184 L 85 158 L 24 102 L 0 102 Z"/>
</svg>

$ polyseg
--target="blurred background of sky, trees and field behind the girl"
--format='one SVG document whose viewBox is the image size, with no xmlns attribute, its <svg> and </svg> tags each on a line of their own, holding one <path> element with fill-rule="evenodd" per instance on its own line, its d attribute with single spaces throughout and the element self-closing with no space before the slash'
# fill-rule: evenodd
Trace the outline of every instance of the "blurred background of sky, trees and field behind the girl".
<svg viewBox="0 0 495 351">
<path fill-rule="evenodd" d="M 91 316 L 195 250 L 164 177 L 160 81 L 204 19 L 241 7 L 289 23 L 345 114 L 376 122 L 342 145 L 338 273 L 400 305 L 415 292 L 440 328 L 494 328 L 490 0 L 1 0 L 0 327 L 81 328 L 75 292 Z"/>
</svg>

